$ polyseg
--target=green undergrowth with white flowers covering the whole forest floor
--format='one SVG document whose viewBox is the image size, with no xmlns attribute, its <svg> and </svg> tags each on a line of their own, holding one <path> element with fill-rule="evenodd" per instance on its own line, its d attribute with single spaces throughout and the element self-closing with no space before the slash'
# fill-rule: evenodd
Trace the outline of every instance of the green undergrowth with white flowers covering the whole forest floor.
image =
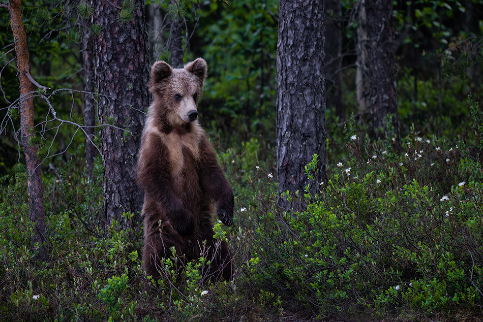
<svg viewBox="0 0 483 322">
<path fill-rule="evenodd" d="M 476 103 L 471 113 L 473 135 L 449 142 L 412 128 L 402 153 L 391 138 L 361 138 L 353 121 L 347 123 L 337 138 L 344 153 L 328 162 L 327 182 L 317 182 L 316 155 L 307 166 L 319 191 L 297 196 L 306 205 L 298 212 L 277 206 L 273 160 L 259 158 L 261 142 L 252 139 L 220 154 L 236 209 L 233 227 L 217 222 L 215 231 L 233 247 L 235 270 L 232 281 L 216 284 L 203 281 L 203 258 L 179 272 L 175 254 L 165 259 L 161 280 L 146 277 L 142 225 L 102 228 L 102 184 L 85 179 L 77 155 L 44 176 L 51 256 L 38 262 L 29 247 L 26 178 L 21 172 L 5 176 L 0 317 L 221 321 L 279 320 L 294 313 L 355 320 L 477 314 L 483 308 L 483 122 Z M 133 218 L 125 216 L 127 222 Z"/>
</svg>

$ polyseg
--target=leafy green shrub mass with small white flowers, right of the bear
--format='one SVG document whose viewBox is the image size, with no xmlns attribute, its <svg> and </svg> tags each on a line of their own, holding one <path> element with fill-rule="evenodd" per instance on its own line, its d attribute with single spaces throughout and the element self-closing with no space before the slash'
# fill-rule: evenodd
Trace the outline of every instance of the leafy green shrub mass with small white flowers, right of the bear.
<svg viewBox="0 0 483 322">
<path fill-rule="evenodd" d="M 389 140 L 370 145 L 367 159 L 348 137 L 348 159 L 331 167 L 319 194 L 306 194 L 306 210 L 261 211 L 257 281 L 321 315 L 478 311 L 481 164 L 416 135 L 401 157 Z"/>
</svg>

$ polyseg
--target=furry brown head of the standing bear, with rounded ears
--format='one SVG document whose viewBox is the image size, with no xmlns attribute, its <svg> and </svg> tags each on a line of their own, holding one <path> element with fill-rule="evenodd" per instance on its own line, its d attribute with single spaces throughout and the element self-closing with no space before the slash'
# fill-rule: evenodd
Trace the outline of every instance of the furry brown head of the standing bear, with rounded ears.
<svg viewBox="0 0 483 322">
<path fill-rule="evenodd" d="M 173 69 L 164 61 L 156 62 L 151 68 L 149 82 L 149 91 L 154 96 L 149 112 L 157 114 L 157 118 L 170 127 L 195 121 L 206 72 L 203 58 L 197 58 L 180 69 Z"/>
</svg>

